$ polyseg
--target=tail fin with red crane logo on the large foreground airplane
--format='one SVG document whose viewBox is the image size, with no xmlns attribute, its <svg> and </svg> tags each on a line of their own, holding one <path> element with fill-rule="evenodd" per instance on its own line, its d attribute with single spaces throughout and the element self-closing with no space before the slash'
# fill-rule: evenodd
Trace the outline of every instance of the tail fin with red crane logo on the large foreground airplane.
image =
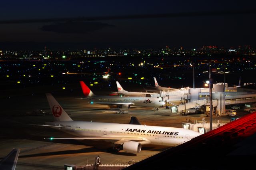
<svg viewBox="0 0 256 170">
<path fill-rule="evenodd" d="M 51 109 L 52 115 L 54 117 L 54 121 L 73 121 L 68 116 L 66 111 L 64 111 L 64 109 L 60 106 L 58 101 L 56 101 L 56 99 L 54 99 L 52 94 L 46 93 L 46 97 L 47 97 L 48 103 L 50 105 L 50 109 Z"/>
</svg>

